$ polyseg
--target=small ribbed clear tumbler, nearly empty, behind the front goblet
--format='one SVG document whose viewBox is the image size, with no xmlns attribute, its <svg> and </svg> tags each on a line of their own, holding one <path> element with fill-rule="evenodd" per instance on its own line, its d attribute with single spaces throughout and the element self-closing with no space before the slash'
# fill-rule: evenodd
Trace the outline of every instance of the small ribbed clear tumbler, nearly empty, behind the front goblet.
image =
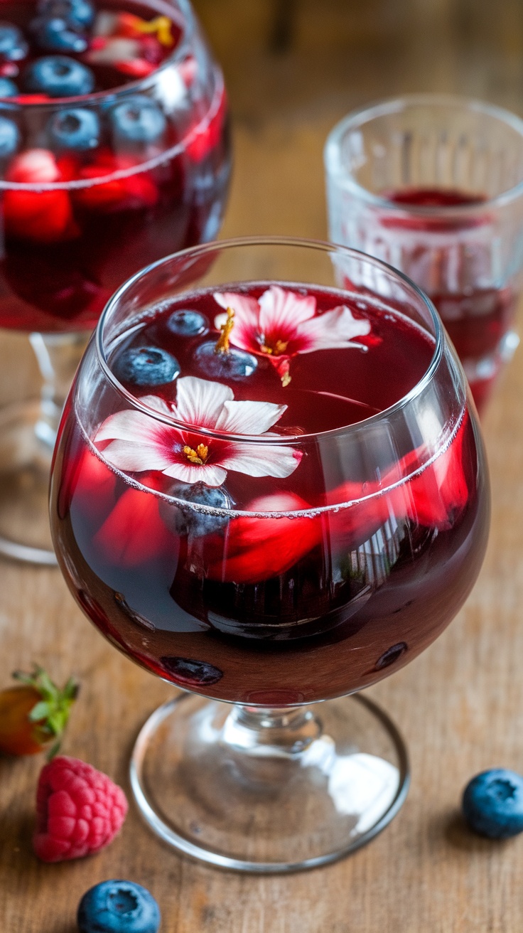
<svg viewBox="0 0 523 933">
<path fill-rule="evenodd" d="M 324 162 L 331 240 L 430 296 L 482 411 L 518 343 L 523 121 L 468 98 L 406 95 L 342 119 Z"/>
</svg>

